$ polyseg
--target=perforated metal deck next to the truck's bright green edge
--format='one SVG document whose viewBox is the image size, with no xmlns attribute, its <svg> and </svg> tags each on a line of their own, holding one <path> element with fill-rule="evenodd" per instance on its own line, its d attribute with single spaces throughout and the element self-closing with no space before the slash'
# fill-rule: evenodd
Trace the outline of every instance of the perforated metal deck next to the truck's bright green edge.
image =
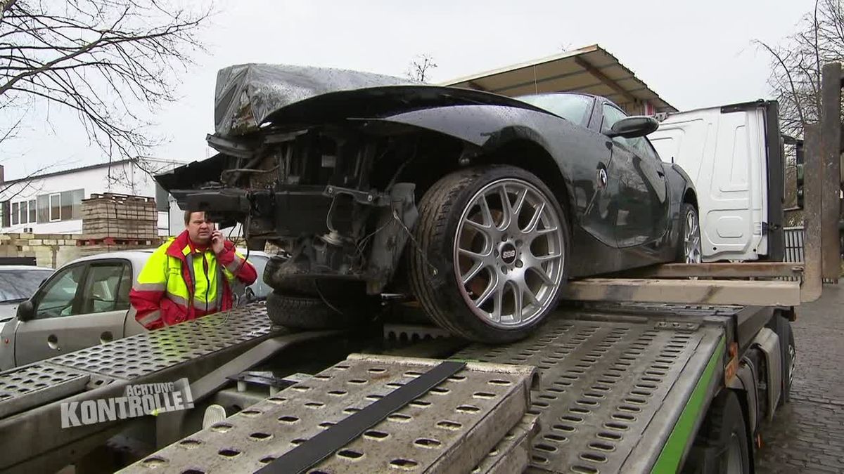
<svg viewBox="0 0 844 474">
<path fill-rule="evenodd" d="M 531 471 L 650 471 L 722 331 L 580 317 L 550 320 L 508 347 L 475 345 L 454 357 L 538 367 L 541 384 L 529 413 L 538 415 L 541 431 Z"/>
</svg>

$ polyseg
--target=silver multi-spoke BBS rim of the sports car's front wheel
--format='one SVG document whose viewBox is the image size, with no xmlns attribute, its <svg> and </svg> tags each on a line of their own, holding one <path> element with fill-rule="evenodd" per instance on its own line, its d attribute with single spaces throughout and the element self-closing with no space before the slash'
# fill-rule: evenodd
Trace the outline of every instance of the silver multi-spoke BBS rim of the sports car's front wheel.
<svg viewBox="0 0 844 474">
<path fill-rule="evenodd" d="M 463 299 L 495 327 L 527 326 L 559 291 L 565 235 L 548 197 L 527 181 L 497 180 L 463 210 L 454 271 Z"/>
</svg>

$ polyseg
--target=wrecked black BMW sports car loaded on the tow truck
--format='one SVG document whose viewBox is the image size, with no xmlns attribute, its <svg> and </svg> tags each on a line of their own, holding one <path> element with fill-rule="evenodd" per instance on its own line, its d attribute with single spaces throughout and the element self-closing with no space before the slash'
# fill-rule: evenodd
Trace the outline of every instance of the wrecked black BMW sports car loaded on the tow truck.
<svg viewBox="0 0 844 474">
<path fill-rule="evenodd" d="M 497 94 L 317 67 L 219 72 L 219 154 L 158 180 L 244 223 L 284 326 L 354 324 L 386 294 L 481 342 L 537 326 L 570 277 L 700 261 L 695 190 L 587 94 Z"/>
</svg>

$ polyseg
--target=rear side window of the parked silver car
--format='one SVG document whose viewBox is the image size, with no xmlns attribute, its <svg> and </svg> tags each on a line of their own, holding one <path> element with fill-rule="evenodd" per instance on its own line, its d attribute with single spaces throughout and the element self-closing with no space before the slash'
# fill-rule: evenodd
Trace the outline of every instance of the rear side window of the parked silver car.
<svg viewBox="0 0 844 474">
<path fill-rule="evenodd" d="M 131 286 L 128 266 L 122 261 L 92 264 L 85 277 L 82 294 L 82 314 L 128 310 L 128 288 Z"/>
</svg>

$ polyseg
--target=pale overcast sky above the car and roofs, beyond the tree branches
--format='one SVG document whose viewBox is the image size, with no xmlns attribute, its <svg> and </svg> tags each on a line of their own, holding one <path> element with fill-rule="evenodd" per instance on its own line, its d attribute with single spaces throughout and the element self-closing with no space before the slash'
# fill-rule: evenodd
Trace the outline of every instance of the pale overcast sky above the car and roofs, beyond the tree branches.
<svg viewBox="0 0 844 474">
<path fill-rule="evenodd" d="M 190 0 L 187 0 L 190 1 Z M 769 57 L 752 44 L 793 33 L 809 0 L 644 1 L 281 1 L 218 0 L 204 35 L 208 54 L 181 78 L 183 97 L 158 116 L 169 143 L 154 156 L 207 156 L 214 80 L 221 67 L 274 62 L 403 76 L 414 55 L 434 57 L 439 83 L 598 44 L 679 110 L 769 98 Z M 106 161 L 75 116 L 30 114 L 4 143 L 6 178 L 44 164 Z"/>
</svg>

